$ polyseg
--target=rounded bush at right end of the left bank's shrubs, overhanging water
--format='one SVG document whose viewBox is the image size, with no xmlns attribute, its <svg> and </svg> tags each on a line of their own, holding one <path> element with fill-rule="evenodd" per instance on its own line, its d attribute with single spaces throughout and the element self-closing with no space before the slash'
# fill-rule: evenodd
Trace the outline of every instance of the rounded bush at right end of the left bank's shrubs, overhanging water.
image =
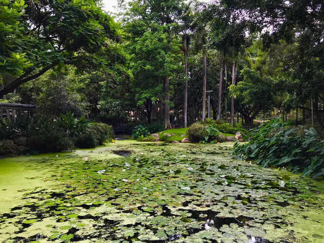
<svg viewBox="0 0 324 243">
<path fill-rule="evenodd" d="M 112 127 L 104 123 L 88 124 L 75 140 L 78 148 L 94 148 L 114 137 Z"/>
</svg>

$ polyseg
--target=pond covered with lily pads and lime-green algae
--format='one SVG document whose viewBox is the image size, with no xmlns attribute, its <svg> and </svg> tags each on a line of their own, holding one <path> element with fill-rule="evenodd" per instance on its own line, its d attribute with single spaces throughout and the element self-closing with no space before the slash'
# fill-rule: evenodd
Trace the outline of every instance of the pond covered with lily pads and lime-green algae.
<svg viewBox="0 0 324 243">
<path fill-rule="evenodd" d="M 124 140 L 0 160 L 0 242 L 324 242 L 324 182 L 231 148 Z"/>
</svg>

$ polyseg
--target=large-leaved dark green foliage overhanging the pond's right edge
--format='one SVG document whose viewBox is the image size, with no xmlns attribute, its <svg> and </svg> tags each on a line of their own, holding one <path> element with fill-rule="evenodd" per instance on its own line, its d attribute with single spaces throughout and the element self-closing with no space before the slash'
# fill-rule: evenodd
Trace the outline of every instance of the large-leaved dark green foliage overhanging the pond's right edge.
<svg viewBox="0 0 324 243">
<path fill-rule="evenodd" d="M 317 139 L 314 128 L 289 127 L 289 123 L 279 122 L 279 118 L 250 130 L 249 143 L 235 143 L 233 155 L 254 161 L 262 167 L 287 168 L 302 176 L 318 177 L 324 174 L 324 140 Z"/>
</svg>

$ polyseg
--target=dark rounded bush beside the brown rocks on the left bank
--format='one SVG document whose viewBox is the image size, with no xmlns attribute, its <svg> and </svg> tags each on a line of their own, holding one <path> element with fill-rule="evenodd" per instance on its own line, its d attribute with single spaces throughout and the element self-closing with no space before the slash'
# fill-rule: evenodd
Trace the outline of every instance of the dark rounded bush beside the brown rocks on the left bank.
<svg viewBox="0 0 324 243">
<path fill-rule="evenodd" d="M 43 153 L 70 151 L 73 148 L 73 140 L 60 127 L 42 130 L 41 133 L 28 138 L 27 143 L 32 151 Z"/>
</svg>

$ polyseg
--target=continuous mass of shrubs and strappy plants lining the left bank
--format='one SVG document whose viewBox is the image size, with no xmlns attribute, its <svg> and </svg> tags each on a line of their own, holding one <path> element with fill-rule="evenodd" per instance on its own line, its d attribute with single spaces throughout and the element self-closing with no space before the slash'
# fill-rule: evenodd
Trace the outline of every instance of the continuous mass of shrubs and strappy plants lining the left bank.
<svg viewBox="0 0 324 243">
<path fill-rule="evenodd" d="M 111 142 L 112 127 L 103 123 L 89 123 L 83 116 L 75 118 L 67 112 L 53 118 L 41 115 L 20 116 L 16 121 L 1 121 L 0 139 L 27 138 L 31 152 L 69 151 L 74 147 L 93 148 Z"/>
</svg>

